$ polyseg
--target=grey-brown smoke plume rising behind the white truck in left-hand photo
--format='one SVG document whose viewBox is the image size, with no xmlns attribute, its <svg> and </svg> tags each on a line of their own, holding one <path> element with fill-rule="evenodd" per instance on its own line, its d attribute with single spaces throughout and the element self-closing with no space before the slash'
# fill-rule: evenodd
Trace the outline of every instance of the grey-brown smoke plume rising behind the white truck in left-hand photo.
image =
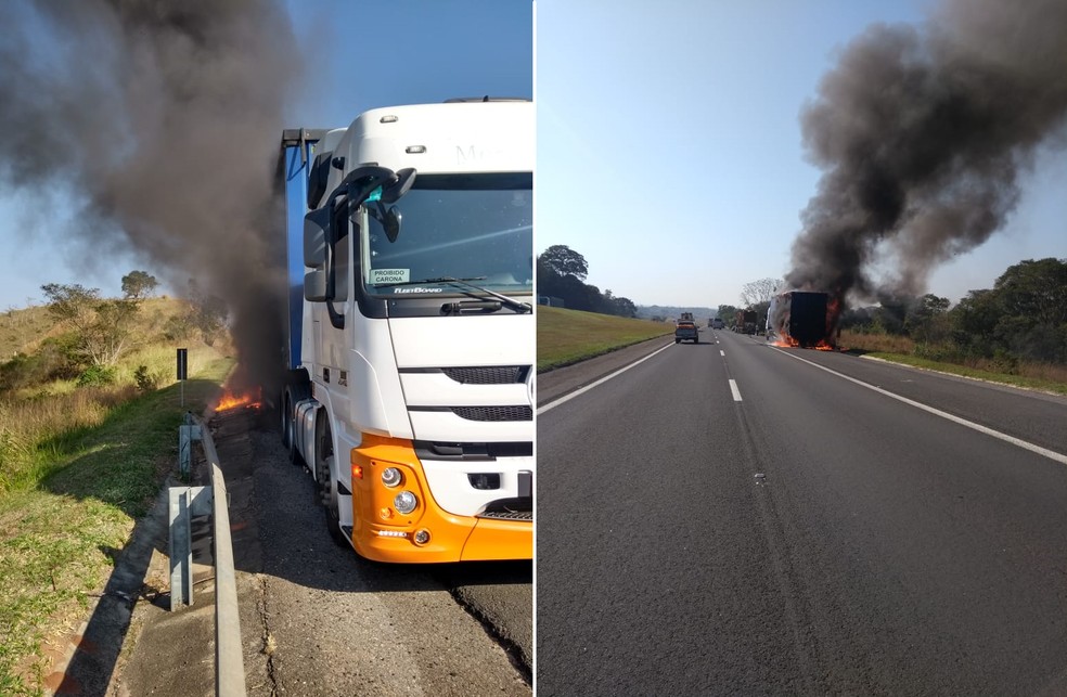
<svg viewBox="0 0 1067 697">
<path fill-rule="evenodd" d="M 44 244 L 131 249 L 224 299 L 243 387 L 279 364 L 271 179 L 298 60 L 272 0 L 4 3 L 0 184 L 38 194 Z M 80 207 L 70 229 L 49 221 L 57 189 Z"/>
</svg>

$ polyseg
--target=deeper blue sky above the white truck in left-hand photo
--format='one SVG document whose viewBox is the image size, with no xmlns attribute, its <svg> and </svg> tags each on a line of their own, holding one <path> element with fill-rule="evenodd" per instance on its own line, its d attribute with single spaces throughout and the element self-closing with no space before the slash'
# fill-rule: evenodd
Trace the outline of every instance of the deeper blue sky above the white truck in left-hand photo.
<svg viewBox="0 0 1067 697">
<path fill-rule="evenodd" d="M 290 127 L 347 126 L 377 106 L 534 94 L 530 0 L 286 0 L 286 7 L 313 72 L 309 89 L 293 94 Z M 69 196 L 78 193 L 52 195 L 53 223 L 54 216 L 69 220 Z M 46 232 L 62 225 L 46 228 L 43 215 L 39 201 L 0 191 L 0 311 L 40 304 L 44 283 L 81 283 L 118 296 L 129 271 L 159 274 L 129 249 L 63 244 Z"/>
</svg>

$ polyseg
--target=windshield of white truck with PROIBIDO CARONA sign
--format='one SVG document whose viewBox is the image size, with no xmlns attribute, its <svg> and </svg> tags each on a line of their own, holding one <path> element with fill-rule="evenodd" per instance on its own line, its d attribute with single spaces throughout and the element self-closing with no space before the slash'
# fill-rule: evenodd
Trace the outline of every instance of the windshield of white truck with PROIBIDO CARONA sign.
<svg viewBox="0 0 1067 697">
<path fill-rule="evenodd" d="M 422 175 L 394 204 L 400 232 L 389 241 L 382 223 L 361 211 L 362 274 L 368 293 L 458 293 L 442 277 L 477 279 L 504 294 L 534 287 L 534 177 L 530 172 Z M 373 205 L 373 204 L 372 204 Z M 436 280 L 436 281 L 435 281 Z"/>
</svg>

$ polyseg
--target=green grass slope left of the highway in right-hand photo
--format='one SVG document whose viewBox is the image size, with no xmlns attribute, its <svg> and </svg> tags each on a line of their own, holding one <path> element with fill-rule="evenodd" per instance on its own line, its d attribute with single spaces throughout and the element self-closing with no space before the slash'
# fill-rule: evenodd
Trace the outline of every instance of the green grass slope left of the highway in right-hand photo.
<svg viewBox="0 0 1067 697">
<path fill-rule="evenodd" d="M 537 309 L 537 372 L 570 365 L 657 336 L 674 325 L 563 308 Z"/>
</svg>

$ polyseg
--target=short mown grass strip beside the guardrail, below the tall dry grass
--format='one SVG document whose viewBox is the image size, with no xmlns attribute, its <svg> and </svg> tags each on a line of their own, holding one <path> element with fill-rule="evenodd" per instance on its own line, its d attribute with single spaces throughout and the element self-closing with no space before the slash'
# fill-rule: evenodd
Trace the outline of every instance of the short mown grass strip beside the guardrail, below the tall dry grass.
<svg viewBox="0 0 1067 697">
<path fill-rule="evenodd" d="M 48 436 L 36 469 L 0 495 L 0 694 L 41 694 L 41 643 L 82 621 L 177 466 L 183 414 L 203 411 L 232 365 L 205 362 L 184 408 L 170 385 L 108 408 L 99 425 Z"/>
</svg>

